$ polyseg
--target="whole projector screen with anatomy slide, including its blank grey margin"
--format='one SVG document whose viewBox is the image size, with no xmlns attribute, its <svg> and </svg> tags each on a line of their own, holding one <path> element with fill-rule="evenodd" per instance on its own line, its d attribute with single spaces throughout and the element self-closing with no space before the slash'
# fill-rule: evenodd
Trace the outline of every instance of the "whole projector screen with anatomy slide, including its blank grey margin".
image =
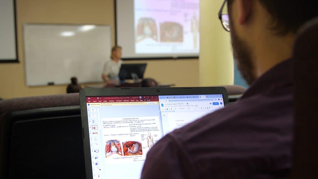
<svg viewBox="0 0 318 179">
<path fill-rule="evenodd" d="M 200 0 L 116 0 L 123 59 L 197 57 Z"/>
</svg>

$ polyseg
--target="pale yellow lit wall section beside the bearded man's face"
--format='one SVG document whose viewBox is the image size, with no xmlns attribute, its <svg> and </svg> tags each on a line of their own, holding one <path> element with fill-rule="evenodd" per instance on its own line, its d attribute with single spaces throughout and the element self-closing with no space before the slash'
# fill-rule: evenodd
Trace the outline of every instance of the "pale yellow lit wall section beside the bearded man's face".
<svg viewBox="0 0 318 179">
<path fill-rule="evenodd" d="M 200 64 L 201 86 L 233 85 L 234 61 L 230 33 L 218 19 L 224 0 L 200 1 Z"/>
</svg>

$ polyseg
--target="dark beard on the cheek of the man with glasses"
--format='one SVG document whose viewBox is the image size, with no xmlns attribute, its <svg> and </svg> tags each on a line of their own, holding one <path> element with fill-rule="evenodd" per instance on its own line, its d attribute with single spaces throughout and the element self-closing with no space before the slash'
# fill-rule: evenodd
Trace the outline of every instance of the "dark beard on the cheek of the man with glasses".
<svg viewBox="0 0 318 179">
<path fill-rule="evenodd" d="M 234 59 L 237 62 L 238 69 L 242 77 L 245 79 L 248 85 L 251 85 L 257 79 L 254 63 L 252 60 L 252 51 L 247 46 L 246 42 L 239 38 L 231 20 L 230 27 Z"/>
</svg>

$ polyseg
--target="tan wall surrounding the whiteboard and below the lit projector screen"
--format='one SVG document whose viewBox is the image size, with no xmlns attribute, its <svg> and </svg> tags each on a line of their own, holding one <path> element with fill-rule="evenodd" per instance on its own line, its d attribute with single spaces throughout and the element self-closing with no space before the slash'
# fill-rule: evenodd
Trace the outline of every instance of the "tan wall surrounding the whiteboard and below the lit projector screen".
<svg viewBox="0 0 318 179">
<path fill-rule="evenodd" d="M 66 85 L 25 86 L 23 24 L 107 24 L 112 26 L 114 43 L 114 0 L 16 0 L 19 63 L 0 63 L 0 97 L 26 97 L 63 94 Z M 199 61 L 156 60 L 147 62 L 145 77 L 162 83 L 175 83 L 177 87 L 199 85 Z"/>
</svg>

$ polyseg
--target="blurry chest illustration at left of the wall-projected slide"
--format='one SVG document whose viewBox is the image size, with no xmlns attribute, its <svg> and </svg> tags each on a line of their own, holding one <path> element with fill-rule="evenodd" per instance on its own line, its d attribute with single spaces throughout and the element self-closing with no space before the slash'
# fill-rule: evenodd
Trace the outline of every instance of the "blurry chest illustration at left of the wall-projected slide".
<svg viewBox="0 0 318 179">
<path fill-rule="evenodd" d="M 138 20 L 136 42 L 146 38 L 158 40 L 157 25 L 153 18 L 140 18 Z"/>
</svg>

